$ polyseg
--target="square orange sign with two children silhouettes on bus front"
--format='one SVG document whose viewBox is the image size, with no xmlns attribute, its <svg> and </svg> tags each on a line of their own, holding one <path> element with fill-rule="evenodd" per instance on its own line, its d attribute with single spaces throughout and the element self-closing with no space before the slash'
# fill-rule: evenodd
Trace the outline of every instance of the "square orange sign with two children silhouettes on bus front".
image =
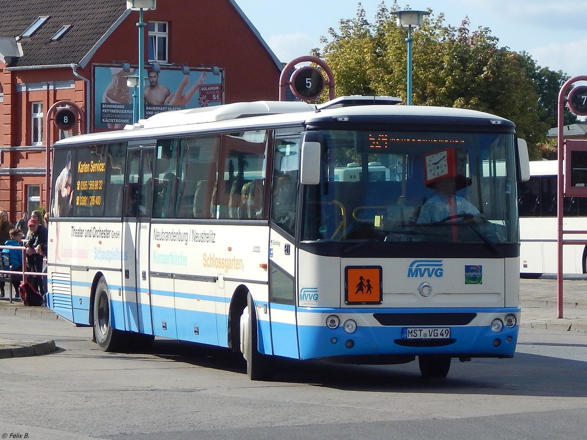
<svg viewBox="0 0 587 440">
<path fill-rule="evenodd" d="M 381 266 L 348 266 L 345 268 L 346 304 L 381 304 L 382 302 Z"/>
</svg>

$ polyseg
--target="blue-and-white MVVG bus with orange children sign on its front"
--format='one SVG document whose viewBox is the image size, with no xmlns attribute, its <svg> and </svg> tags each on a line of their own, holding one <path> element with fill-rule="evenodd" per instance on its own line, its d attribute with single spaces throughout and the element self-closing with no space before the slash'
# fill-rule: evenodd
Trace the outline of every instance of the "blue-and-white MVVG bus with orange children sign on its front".
<svg viewBox="0 0 587 440">
<path fill-rule="evenodd" d="M 251 380 L 278 358 L 443 378 L 514 356 L 525 144 L 501 117 L 397 101 L 233 103 L 56 142 L 48 306 L 104 351 L 225 347 Z M 449 215 L 420 221 L 449 181 Z"/>
</svg>

